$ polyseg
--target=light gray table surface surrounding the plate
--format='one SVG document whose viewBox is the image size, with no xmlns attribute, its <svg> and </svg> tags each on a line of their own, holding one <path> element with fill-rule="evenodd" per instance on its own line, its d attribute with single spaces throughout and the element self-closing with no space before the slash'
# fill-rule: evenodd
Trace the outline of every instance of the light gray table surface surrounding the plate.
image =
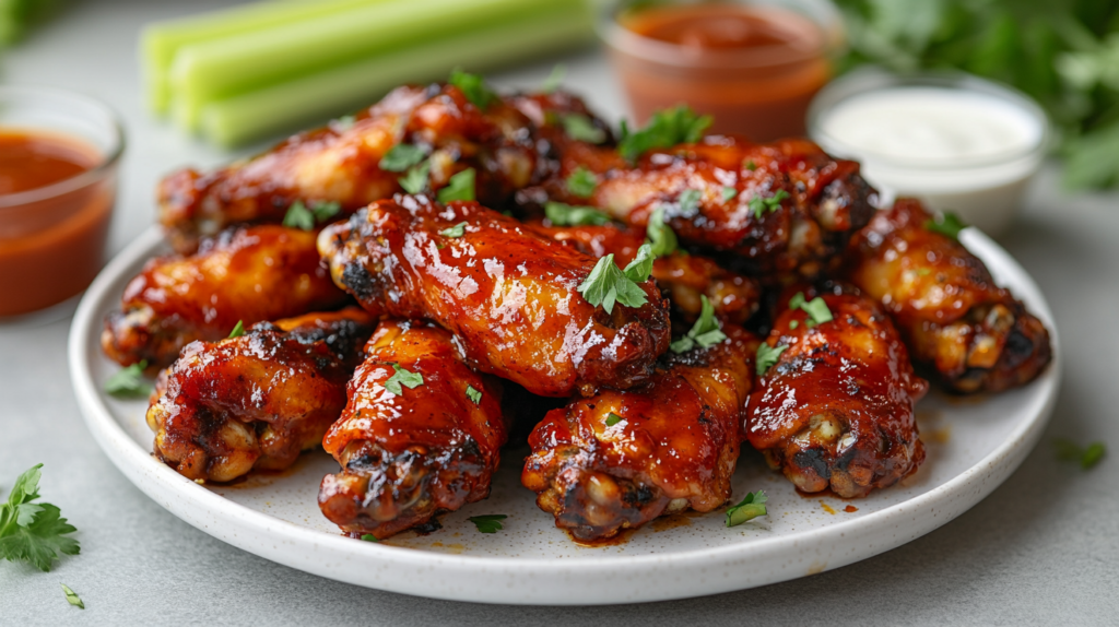
<svg viewBox="0 0 1119 627">
<path fill-rule="evenodd" d="M 231 159 L 145 114 L 135 61 L 140 25 L 217 4 L 75 3 L 0 58 L 3 83 L 83 91 L 125 120 L 113 250 L 151 222 L 161 173 Z M 568 84 L 594 106 L 624 111 L 599 55 L 566 63 Z M 549 68 L 496 82 L 532 86 Z M 1003 243 L 1041 284 L 1065 350 L 1053 421 L 1022 468 L 956 521 L 876 558 L 764 588 L 640 606 L 542 611 L 427 600 L 329 581 L 226 545 L 160 509 L 93 443 L 70 392 L 68 321 L 0 325 L 0 494 L 45 463 L 44 497 L 62 507 L 82 542 L 81 555 L 49 573 L 0 562 L 0 625 L 1119 624 L 1119 194 L 1069 194 L 1047 169 Z M 1055 459 L 1054 437 L 1103 439 L 1115 453 L 1084 473 Z M 84 611 L 65 602 L 59 582 L 82 595 Z"/>
</svg>

